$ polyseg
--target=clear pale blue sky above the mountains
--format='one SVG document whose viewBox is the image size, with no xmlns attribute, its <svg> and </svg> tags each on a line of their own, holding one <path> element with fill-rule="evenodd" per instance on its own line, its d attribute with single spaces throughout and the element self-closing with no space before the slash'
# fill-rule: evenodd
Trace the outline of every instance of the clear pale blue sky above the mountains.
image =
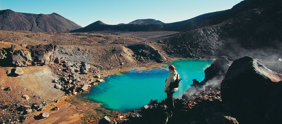
<svg viewBox="0 0 282 124">
<path fill-rule="evenodd" d="M 232 8 L 242 0 L 0 0 L 0 10 L 51 14 L 85 27 L 95 21 L 116 25 L 136 19 L 164 23 L 187 20 L 201 14 Z"/>
</svg>

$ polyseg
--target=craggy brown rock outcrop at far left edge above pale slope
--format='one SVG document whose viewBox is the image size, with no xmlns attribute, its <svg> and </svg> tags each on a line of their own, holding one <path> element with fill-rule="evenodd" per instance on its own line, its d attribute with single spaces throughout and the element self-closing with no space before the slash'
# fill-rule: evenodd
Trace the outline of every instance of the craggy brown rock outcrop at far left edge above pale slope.
<svg viewBox="0 0 282 124">
<path fill-rule="evenodd" d="M 7 43 L 8 44 L 8 43 Z M 50 64 L 58 54 L 56 45 L 20 45 L 11 44 L 8 49 L 1 49 L 0 66 L 39 66 Z M 3 52 L 4 51 L 4 52 Z"/>
</svg>

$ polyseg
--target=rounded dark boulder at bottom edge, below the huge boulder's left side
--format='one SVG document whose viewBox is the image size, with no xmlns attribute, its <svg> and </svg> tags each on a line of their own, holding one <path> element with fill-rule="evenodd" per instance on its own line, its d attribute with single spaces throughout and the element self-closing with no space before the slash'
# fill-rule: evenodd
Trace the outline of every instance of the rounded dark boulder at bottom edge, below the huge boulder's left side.
<svg viewBox="0 0 282 124">
<path fill-rule="evenodd" d="M 239 124 L 237 120 L 228 113 L 215 112 L 206 116 L 207 124 Z"/>
</svg>

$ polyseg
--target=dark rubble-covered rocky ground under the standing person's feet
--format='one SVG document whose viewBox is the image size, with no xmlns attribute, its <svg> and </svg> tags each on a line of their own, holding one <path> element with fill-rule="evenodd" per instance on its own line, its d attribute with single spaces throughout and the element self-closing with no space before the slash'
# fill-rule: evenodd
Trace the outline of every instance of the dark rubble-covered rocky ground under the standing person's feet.
<svg viewBox="0 0 282 124">
<path fill-rule="evenodd" d="M 151 100 L 148 105 L 140 108 L 138 114 L 131 113 L 126 121 L 118 121 L 121 124 L 135 123 L 190 123 L 190 124 L 215 124 L 215 123 L 234 123 L 237 118 L 224 112 L 220 98 L 220 89 L 201 91 L 191 95 L 191 99 L 175 99 L 175 110 L 172 112 L 167 108 L 167 101 L 157 103 Z"/>
</svg>

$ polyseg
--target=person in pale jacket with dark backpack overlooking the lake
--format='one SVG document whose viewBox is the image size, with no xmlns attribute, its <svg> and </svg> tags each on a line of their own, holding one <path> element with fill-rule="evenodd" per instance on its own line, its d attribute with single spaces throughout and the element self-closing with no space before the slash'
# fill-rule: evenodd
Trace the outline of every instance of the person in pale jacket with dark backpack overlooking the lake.
<svg viewBox="0 0 282 124">
<path fill-rule="evenodd" d="M 177 78 L 180 79 L 180 76 L 177 73 L 177 71 L 175 70 L 175 67 L 173 65 L 170 65 L 168 69 L 170 73 L 168 75 L 168 78 L 166 79 L 166 86 L 164 87 L 164 92 L 166 93 L 166 96 L 167 96 L 168 108 L 170 110 L 173 110 L 174 109 L 173 93 L 177 92 L 178 85 L 177 85 L 177 88 L 171 88 L 170 85 L 171 85 L 171 82 L 174 82 Z"/>
</svg>

